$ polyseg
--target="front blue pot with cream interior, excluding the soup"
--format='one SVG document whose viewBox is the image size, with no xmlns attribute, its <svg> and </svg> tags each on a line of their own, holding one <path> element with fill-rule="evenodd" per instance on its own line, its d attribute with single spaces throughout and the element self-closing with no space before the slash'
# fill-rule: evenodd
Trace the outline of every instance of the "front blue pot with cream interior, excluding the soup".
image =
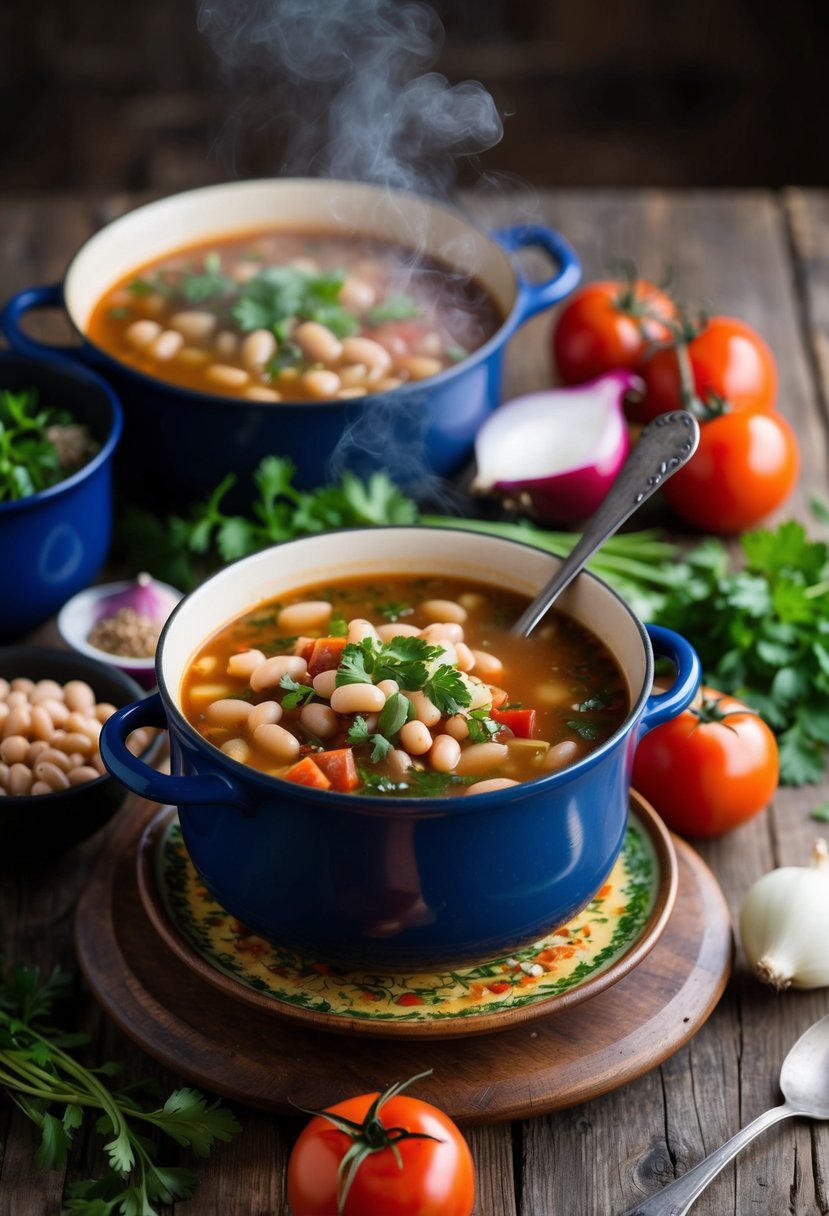
<svg viewBox="0 0 829 1216">
<path fill-rule="evenodd" d="M 207 886 L 249 928 L 343 966 L 379 969 L 509 952 L 566 922 L 602 886 L 627 823 L 633 750 L 681 713 L 699 685 L 694 651 L 645 630 L 605 584 L 582 574 L 562 608 L 604 641 L 625 671 L 630 714 L 570 769 L 474 798 L 372 798 L 297 786 L 241 765 L 185 720 L 180 687 L 199 643 L 281 591 L 362 572 L 451 574 L 535 593 L 558 558 L 467 531 L 378 528 L 329 533 L 242 559 L 185 597 L 157 652 L 157 694 L 106 724 L 101 754 L 145 798 L 179 806 Z M 653 651 L 676 666 L 653 696 Z M 135 760 L 140 725 L 170 732 L 173 776 Z"/>
</svg>

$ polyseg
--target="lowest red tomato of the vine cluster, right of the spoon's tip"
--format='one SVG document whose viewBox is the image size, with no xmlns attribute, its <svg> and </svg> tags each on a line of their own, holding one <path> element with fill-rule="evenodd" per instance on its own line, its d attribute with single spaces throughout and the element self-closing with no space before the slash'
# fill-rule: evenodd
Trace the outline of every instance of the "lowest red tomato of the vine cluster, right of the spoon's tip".
<svg viewBox="0 0 829 1216">
<path fill-rule="evenodd" d="M 686 523 L 738 533 L 784 502 L 799 471 L 797 439 L 779 413 L 723 413 L 703 423 L 699 447 L 662 492 Z"/>
</svg>

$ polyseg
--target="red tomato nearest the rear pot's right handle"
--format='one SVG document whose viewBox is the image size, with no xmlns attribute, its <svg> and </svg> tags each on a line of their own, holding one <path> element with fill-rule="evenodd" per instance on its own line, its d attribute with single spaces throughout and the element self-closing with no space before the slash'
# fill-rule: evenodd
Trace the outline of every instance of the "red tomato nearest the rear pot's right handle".
<svg viewBox="0 0 829 1216">
<path fill-rule="evenodd" d="M 559 314 L 553 358 L 564 384 L 583 384 L 604 372 L 638 371 L 652 342 L 666 342 L 673 302 L 653 283 L 588 283 Z"/>
</svg>

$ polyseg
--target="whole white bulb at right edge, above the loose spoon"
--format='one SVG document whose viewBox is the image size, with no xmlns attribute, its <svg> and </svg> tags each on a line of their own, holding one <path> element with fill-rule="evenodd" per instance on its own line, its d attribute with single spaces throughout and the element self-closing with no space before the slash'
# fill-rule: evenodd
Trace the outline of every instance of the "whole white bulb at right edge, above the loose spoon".
<svg viewBox="0 0 829 1216">
<path fill-rule="evenodd" d="M 778 991 L 829 986 L 829 848 L 811 866 L 772 869 L 740 905 L 740 941 L 752 970 Z M 816 927 L 824 927 L 816 931 Z"/>
</svg>

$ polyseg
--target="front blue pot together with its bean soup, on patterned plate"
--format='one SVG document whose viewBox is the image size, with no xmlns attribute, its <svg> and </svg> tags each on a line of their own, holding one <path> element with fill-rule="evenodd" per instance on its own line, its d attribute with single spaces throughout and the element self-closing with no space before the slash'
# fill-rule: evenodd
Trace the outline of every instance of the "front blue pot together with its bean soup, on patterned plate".
<svg viewBox="0 0 829 1216">
<path fill-rule="evenodd" d="M 599 890 L 636 743 L 699 683 L 687 642 L 590 574 L 513 637 L 557 563 L 430 528 L 243 558 L 174 609 L 105 764 L 179 807 L 207 888 L 281 945 L 393 970 L 508 955 Z M 136 726 L 169 731 L 171 776 L 125 750 Z"/>
</svg>

